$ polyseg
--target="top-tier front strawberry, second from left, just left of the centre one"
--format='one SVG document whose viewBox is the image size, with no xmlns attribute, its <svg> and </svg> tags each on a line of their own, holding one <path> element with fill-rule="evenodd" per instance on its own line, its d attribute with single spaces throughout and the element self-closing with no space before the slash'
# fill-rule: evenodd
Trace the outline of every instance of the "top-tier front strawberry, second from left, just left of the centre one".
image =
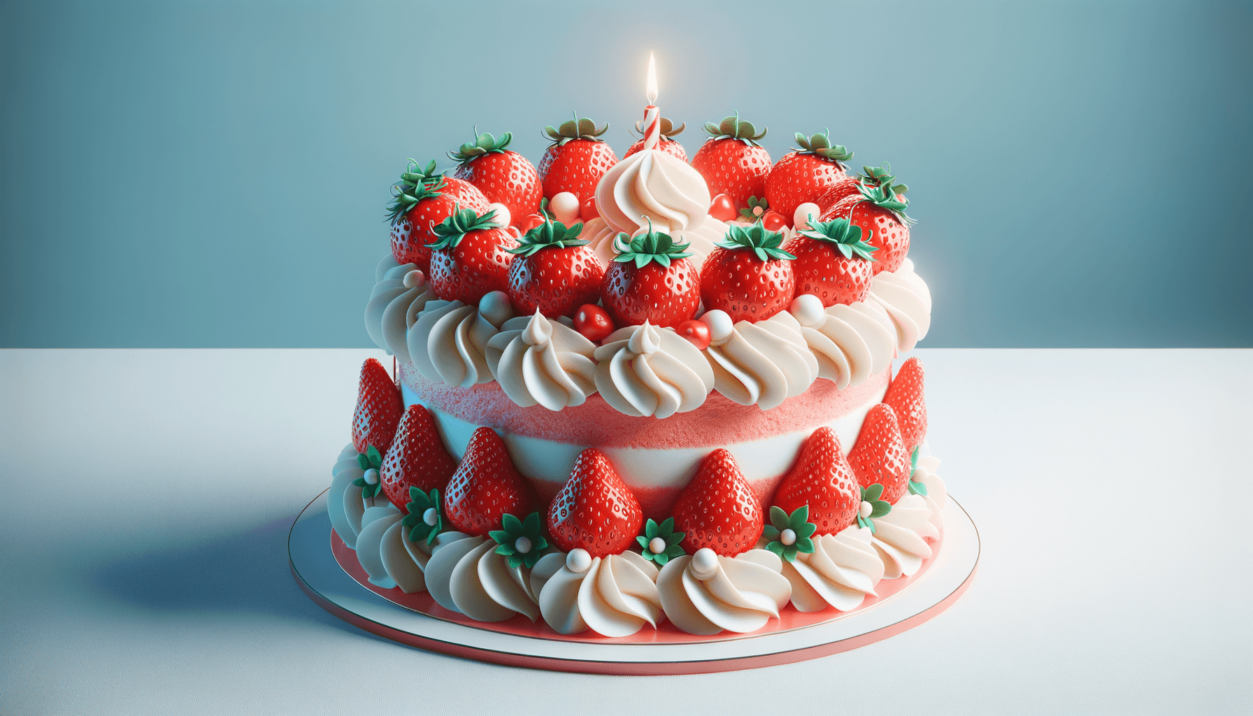
<svg viewBox="0 0 1253 716">
<path fill-rule="evenodd" d="M 596 302 L 605 268 L 596 252 L 579 238 L 581 231 L 581 223 L 566 227 L 545 219 L 509 250 L 516 255 L 509 267 L 509 301 L 516 315 L 539 311 L 555 319 Z"/>
</svg>

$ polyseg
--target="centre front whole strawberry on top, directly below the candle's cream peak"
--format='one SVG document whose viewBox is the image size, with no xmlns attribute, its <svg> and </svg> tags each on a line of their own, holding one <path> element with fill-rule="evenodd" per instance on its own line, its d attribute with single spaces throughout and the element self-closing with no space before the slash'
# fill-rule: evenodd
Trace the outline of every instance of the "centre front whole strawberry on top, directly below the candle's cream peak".
<svg viewBox="0 0 1253 716">
<path fill-rule="evenodd" d="M 614 238 L 618 256 L 600 282 L 600 303 L 618 326 L 678 326 L 700 305 L 700 277 L 689 245 L 653 229 Z"/>
</svg>

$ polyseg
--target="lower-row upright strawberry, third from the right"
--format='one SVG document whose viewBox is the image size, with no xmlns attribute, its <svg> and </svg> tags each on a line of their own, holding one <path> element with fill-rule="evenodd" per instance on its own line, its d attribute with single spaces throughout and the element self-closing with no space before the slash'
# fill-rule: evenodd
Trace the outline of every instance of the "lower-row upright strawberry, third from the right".
<svg viewBox="0 0 1253 716">
<path fill-rule="evenodd" d="M 857 475 L 831 428 L 818 428 L 801 445 L 801 455 L 774 493 L 774 504 L 788 514 L 809 505 L 809 522 L 818 525 L 818 534 L 834 534 L 852 524 L 861 502 Z"/>
</svg>

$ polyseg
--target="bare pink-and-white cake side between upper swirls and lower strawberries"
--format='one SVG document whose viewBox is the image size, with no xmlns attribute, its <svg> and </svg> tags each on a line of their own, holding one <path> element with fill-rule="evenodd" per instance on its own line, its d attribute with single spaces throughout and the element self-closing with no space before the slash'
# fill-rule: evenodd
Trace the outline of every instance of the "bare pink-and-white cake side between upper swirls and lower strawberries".
<svg viewBox="0 0 1253 716">
<path fill-rule="evenodd" d="M 431 410 L 454 456 L 461 458 L 477 428 L 492 428 L 546 504 L 565 484 L 575 456 L 596 448 L 634 490 L 644 514 L 658 519 L 669 513 L 697 465 L 717 448 L 730 451 L 764 504 L 816 429 L 829 425 L 845 453 L 852 449 L 866 413 L 883 399 L 890 376 L 891 370 L 885 370 L 845 390 L 819 379 L 772 410 L 710 392 L 700 408 L 658 420 L 623 415 L 599 394 L 558 413 L 539 405 L 521 408 L 496 382 L 449 387 L 426 380 L 412 364 L 401 364 L 405 405 L 420 403 Z"/>
</svg>

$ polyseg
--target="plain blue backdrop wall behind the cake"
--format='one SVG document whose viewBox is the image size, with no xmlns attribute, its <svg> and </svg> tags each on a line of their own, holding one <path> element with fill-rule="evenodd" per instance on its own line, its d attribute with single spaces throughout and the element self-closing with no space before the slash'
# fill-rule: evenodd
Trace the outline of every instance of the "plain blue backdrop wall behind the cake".
<svg viewBox="0 0 1253 716">
<path fill-rule="evenodd" d="M 620 153 L 650 49 L 689 153 L 892 162 L 926 346 L 1253 346 L 1249 3 L 14 0 L 0 346 L 367 346 L 405 159 L 571 109 Z"/>
</svg>

